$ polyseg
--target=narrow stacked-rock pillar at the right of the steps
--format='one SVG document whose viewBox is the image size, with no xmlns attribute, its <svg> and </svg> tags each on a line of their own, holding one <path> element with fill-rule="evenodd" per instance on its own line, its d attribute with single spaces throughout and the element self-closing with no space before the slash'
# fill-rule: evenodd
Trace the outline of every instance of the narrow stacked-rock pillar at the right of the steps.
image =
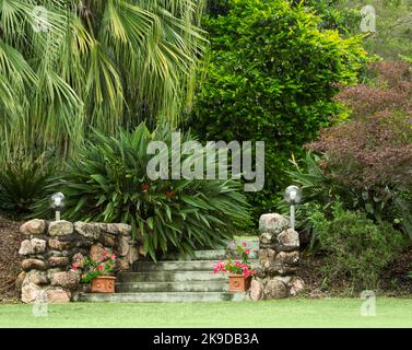
<svg viewBox="0 0 412 350">
<path fill-rule="evenodd" d="M 304 289 L 296 276 L 299 262 L 299 235 L 287 218 L 263 214 L 259 220 L 259 267 L 251 281 L 249 298 L 254 301 L 294 296 Z"/>
</svg>

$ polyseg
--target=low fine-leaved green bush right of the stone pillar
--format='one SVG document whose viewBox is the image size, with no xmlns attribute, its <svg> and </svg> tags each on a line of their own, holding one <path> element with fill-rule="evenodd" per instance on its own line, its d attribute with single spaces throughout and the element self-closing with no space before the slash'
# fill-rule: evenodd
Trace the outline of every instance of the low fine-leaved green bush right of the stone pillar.
<svg viewBox="0 0 412 350">
<path fill-rule="evenodd" d="M 381 271 L 402 247 L 402 234 L 390 224 L 375 224 L 364 213 L 343 210 L 339 202 L 331 219 L 319 210 L 309 220 L 328 253 L 327 270 L 334 278 L 349 278 L 356 290 L 377 288 Z"/>
</svg>

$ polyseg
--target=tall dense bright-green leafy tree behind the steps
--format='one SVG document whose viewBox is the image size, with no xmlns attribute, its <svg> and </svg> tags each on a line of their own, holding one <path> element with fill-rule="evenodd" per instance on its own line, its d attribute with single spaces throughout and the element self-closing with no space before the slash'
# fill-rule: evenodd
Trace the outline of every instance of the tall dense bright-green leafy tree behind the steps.
<svg viewBox="0 0 412 350">
<path fill-rule="evenodd" d="M 204 20 L 211 51 L 191 127 L 201 140 L 266 141 L 266 186 L 248 195 L 258 217 L 273 210 L 292 154 L 339 118 L 339 83 L 353 83 L 365 52 L 357 38 L 320 31 L 319 18 L 290 1 L 229 1 Z"/>
</svg>

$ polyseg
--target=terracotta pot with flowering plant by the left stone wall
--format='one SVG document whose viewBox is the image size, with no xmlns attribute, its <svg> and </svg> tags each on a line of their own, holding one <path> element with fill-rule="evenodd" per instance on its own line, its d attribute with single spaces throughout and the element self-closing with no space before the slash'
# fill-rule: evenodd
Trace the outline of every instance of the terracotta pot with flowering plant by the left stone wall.
<svg viewBox="0 0 412 350">
<path fill-rule="evenodd" d="M 91 282 L 92 293 L 115 293 L 115 282 L 116 277 L 113 276 L 113 270 L 116 264 L 116 255 L 108 253 L 104 254 L 104 261 L 95 261 L 92 257 L 86 257 L 82 262 L 82 275 L 80 276 L 80 281 L 82 283 Z M 75 270 L 80 266 L 73 265 L 72 268 Z"/>
</svg>

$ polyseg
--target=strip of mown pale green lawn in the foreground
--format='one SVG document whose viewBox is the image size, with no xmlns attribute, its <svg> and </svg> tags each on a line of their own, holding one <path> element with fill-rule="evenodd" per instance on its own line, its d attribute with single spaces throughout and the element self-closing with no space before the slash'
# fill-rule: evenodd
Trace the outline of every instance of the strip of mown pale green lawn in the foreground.
<svg viewBox="0 0 412 350">
<path fill-rule="evenodd" d="M 222 303 L 71 303 L 0 305 L 0 327 L 412 327 L 412 299 L 378 298 L 376 316 L 361 299 L 287 299 Z"/>
</svg>

